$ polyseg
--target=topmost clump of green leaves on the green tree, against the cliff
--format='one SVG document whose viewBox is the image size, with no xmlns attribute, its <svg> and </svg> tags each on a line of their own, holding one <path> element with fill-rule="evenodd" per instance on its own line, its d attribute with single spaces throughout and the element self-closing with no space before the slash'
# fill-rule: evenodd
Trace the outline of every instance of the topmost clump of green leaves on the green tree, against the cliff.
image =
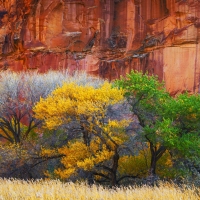
<svg viewBox="0 0 200 200">
<path fill-rule="evenodd" d="M 158 113 L 162 109 L 161 105 L 170 98 L 164 84 L 159 83 L 156 76 L 143 75 L 141 72 L 132 71 L 126 78 L 117 80 L 115 85 L 125 90 L 125 96 L 131 101 L 133 109 L 141 106 L 146 111 Z"/>
</svg>

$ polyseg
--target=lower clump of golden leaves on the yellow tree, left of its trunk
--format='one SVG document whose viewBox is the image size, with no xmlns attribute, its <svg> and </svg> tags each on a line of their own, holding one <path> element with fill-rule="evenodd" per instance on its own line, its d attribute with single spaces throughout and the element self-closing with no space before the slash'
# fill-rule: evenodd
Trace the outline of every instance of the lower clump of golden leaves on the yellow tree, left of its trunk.
<svg viewBox="0 0 200 200">
<path fill-rule="evenodd" d="M 91 146 L 86 146 L 83 142 L 75 142 L 68 146 L 58 149 L 58 152 L 65 156 L 61 159 L 63 170 L 57 169 L 55 173 L 60 178 L 68 178 L 78 168 L 91 170 L 95 164 L 109 160 L 113 156 L 113 152 L 108 150 L 105 145 L 100 150 L 98 142 L 91 142 Z"/>
</svg>

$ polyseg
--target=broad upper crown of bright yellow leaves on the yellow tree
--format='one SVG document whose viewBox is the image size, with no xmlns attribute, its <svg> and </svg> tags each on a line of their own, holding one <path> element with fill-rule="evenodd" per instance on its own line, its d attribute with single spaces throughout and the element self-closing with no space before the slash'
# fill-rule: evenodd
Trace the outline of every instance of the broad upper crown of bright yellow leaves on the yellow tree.
<svg viewBox="0 0 200 200">
<path fill-rule="evenodd" d="M 64 83 L 46 99 L 41 98 L 33 111 L 35 117 L 45 121 L 48 129 L 68 123 L 71 116 L 104 115 L 108 105 L 123 99 L 123 91 L 105 82 L 100 88 Z"/>
</svg>

